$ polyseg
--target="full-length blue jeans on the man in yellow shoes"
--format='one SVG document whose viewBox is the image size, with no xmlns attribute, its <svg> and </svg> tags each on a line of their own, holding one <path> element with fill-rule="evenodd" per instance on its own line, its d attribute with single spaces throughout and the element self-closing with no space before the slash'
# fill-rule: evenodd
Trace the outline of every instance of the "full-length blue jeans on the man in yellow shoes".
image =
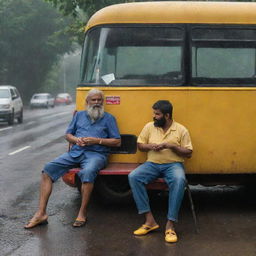
<svg viewBox="0 0 256 256">
<path fill-rule="evenodd" d="M 151 211 L 145 185 L 159 177 L 164 178 L 169 187 L 167 218 L 178 221 L 186 183 L 183 164 L 178 162 L 167 164 L 145 162 L 129 174 L 129 183 L 138 212 L 142 214 Z"/>
</svg>

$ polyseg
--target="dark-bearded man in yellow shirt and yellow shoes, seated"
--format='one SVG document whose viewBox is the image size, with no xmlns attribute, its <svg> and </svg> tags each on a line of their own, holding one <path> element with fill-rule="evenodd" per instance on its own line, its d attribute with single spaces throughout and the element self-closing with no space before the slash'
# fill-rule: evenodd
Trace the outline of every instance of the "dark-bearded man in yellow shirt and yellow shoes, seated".
<svg viewBox="0 0 256 256">
<path fill-rule="evenodd" d="M 158 229 L 150 210 L 145 185 L 163 177 L 169 187 L 169 206 L 165 230 L 165 241 L 178 240 L 174 222 L 185 189 L 184 158 L 191 157 L 192 144 L 188 130 L 172 119 L 172 104 L 159 100 L 153 105 L 153 120 L 145 125 L 138 137 L 138 148 L 147 152 L 147 161 L 129 174 L 129 183 L 139 214 L 145 214 L 145 223 L 134 231 L 135 235 L 146 235 Z"/>
</svg>

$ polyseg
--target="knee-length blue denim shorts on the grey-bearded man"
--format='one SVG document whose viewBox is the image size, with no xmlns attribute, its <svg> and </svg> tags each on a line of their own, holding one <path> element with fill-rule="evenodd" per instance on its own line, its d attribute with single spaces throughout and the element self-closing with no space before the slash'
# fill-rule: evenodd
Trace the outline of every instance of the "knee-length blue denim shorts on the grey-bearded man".
<svg viewBox="0 0 256 256">
<path fill-rule="evenodd" d="M 69 153 L 64 153 L 53 161 L 47 163 L 43 172 L 48 174 L 53 182 L 63 176 L 69 169 L 81 167 L 78 176 L 82 183 L 93 183 L 98 172 L 107 164 L 107 157 L 101 153 L 85 151 L 79 157 L 72 157 Z"/>
</svg>

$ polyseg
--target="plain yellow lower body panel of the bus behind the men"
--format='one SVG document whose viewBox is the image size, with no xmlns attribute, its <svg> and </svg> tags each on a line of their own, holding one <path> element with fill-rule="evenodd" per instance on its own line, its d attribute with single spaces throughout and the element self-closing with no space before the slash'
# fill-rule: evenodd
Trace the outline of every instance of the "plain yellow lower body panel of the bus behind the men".
<svg viewBox="0 0 256 256">
<path fill-rule="evenodd" d="M 88 87 L 77 89 L 77 109 L 84 109 Z M 105 110 L 117 118 L 120 132 L 138 135 L 152 121 L 152 105 L 170 100 L 175 121 L 188 128 L 194 147 L 187 173 L 256 173 L 256 89 L 254 88 L 101 88 Z M 108 99 L 115 96 L 120 103 Z M 112 162 L 143 163 L 146 154 L 112 155 Z"/>
</svg>

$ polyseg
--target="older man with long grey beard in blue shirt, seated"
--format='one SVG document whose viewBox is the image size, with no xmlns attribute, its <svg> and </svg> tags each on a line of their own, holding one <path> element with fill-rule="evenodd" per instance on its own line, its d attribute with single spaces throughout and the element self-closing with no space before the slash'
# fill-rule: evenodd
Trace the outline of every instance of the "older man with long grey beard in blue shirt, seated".
<svg viewBox="0 0 256 256">
<path fill-rule="evenodd" d="M 87 111 L 77 112 L 66 131 L 66 139 L 74 144 L 71 150 L 45 165 L 41 177 L 39 208 L 25 225 L 26 229 L 47 223 L 46 207 L 53 183 L 69 169 L 80 165 L 78 176 L 82 182 L 82 202 L 73 224 L 86 223 L 87 206 L 97 173 L 106 166 L 109 147 L 120 146 L 121 139 L 115 118 L 104 112 L 104 95 L 92 89 L 86 97 Z"/>
</svg>

